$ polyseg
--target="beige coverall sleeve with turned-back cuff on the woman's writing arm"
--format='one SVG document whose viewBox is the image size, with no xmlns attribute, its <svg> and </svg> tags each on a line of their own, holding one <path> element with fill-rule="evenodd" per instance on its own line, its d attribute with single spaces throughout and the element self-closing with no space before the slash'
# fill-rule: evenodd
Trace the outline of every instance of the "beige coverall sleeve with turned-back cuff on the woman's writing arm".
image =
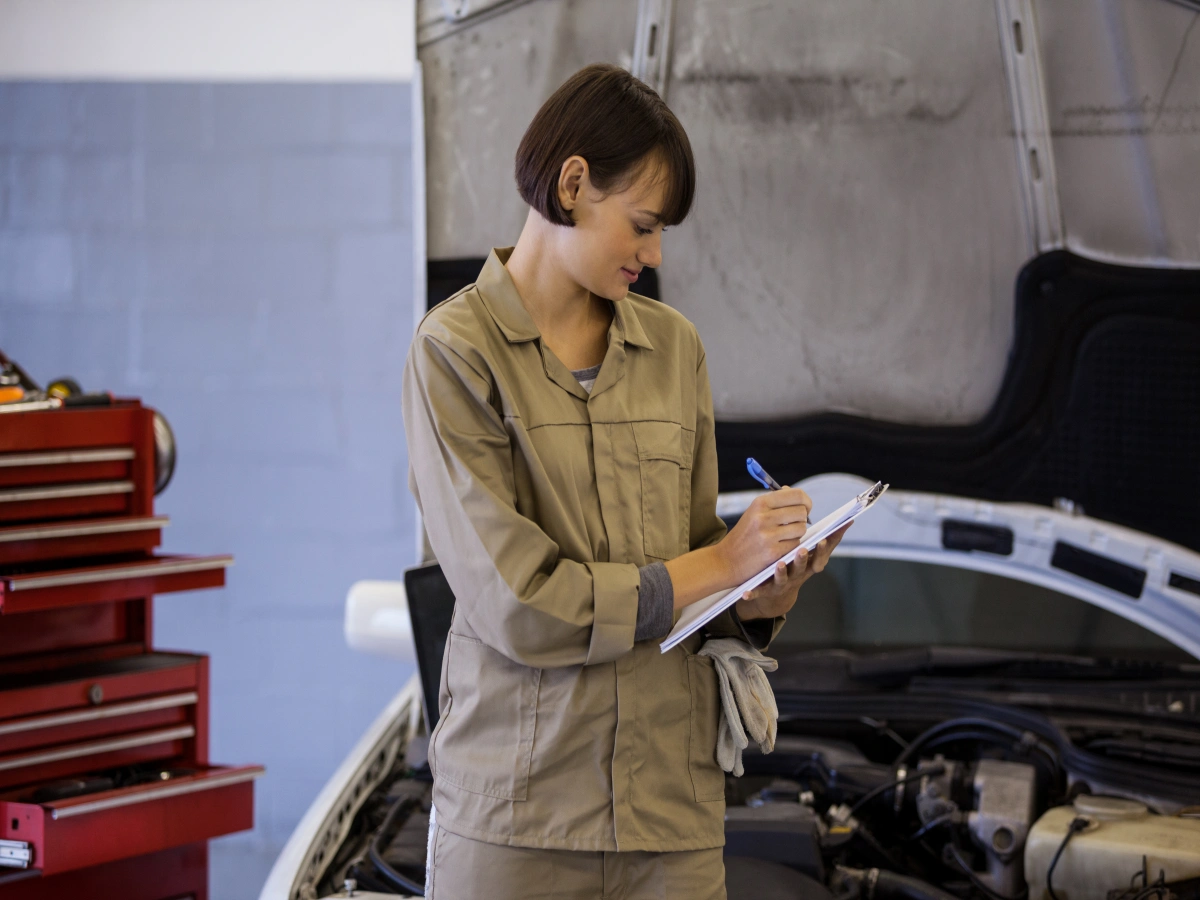
<svg viewBox="0 0 1200 900">
<path fill-rule="evenodd" d="M 418 332 L 402 396 L 409 484 L 456 614 L 526 666 L 612 661 L 634 647 L 637 566 L 562 559 L 517 511 L 512 446 L 491 397 L 490 377 Z"/>
</svg>

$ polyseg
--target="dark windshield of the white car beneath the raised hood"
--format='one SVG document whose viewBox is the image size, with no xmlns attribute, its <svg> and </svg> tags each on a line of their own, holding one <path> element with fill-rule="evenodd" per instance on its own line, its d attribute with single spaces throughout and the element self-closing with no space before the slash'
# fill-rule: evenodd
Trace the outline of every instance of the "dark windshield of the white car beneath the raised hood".
<svg viewBox="0 0 1200 900">
<path fill-rule="evenodd" d="M 1152 631 L 1056 590 L 948 565 L 854 557 L 834 557 L 809 580 L 772 649 L 930 644 L 1195 661 Z"/>
</svg>

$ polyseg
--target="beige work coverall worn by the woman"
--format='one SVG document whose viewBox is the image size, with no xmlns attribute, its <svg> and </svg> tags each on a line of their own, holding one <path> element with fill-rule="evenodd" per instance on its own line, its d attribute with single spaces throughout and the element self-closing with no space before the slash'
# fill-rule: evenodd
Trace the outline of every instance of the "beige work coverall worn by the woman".
<svg viewBox="0 0 1200 900">
<path fill-rule="evenodd" d="M 725 534 L 704 349 L 682 314 L 630 294 L 589 395 L 539 340 L 509 252 L 425 317 L 404 370 L 409 485 L 456 599 L 430 742 L 433 882 L 452 881 L 448 853 L 492 854 L 488 896 L 542 895 L 500 889 L 502 848 L 472 841 L 590 851 L 598 886 L 616 851 L 708 850 L 671 859 L 707 866 L 710 894 L 628 895 L 724 898 L 713 661 L 700 635 L 666 654 L 634 642 L 638 566 Z M 739 634 L 728 614 L 714 625 Z M 546 895 L 626 895 L 562 887 Z"/>
</svg>

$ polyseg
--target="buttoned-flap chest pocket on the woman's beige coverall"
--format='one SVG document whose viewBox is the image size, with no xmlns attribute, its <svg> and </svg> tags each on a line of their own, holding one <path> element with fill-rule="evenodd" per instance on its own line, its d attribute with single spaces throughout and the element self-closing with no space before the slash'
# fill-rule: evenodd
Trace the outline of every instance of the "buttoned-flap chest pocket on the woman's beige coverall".
<svg viewBox="0 0 1200 900">
<path fill-rule="evenodd" d="M 688 550 L 692 437 L 677 422 L 634 422 L 647 557 L 673 559 Z"/>
</svg>

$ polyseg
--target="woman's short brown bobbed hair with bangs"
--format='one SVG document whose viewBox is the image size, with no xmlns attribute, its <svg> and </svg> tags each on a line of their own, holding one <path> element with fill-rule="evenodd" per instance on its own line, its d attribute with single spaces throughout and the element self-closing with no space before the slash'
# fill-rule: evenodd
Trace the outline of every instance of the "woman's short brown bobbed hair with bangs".
<svg viewBox="0 0 1200 900">
<path fill-rule="evenodd" d="M 558 175 L 571 156 L 588 161 L 600 191 L 624 190 L 652 154 L 666 167 L 662 224 L 678 224 L 691 209 L 696 162 L 679 120 L 649 85 L 618 66 L 581 68 L 554 91 L 529 122 L 517 148 L 517 190 L 546 220 L 574 226 L 558 202 Z"/>
</svg>

